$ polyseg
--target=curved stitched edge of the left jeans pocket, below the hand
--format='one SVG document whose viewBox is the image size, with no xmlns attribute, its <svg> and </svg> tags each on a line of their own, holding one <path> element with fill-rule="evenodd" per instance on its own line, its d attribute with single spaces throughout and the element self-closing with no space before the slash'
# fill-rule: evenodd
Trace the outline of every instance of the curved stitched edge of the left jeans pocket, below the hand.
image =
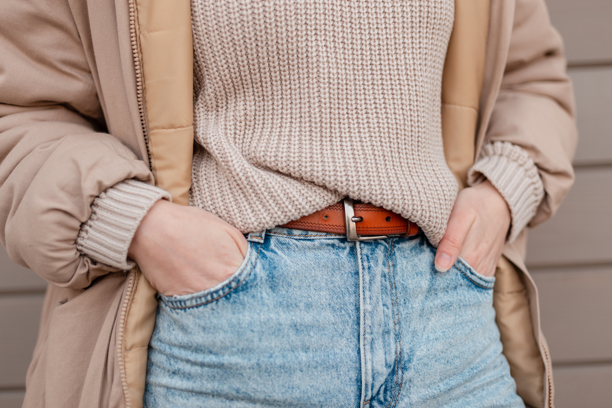
<svg viewBox="0 0 612 408">
<path fill-rule="evenodd" d="M 248 250 L 244 257 L 244 261 L 242 261 L 238 270 L 222 283 L 209 289 L 204 289 L 204 291 L 188 295 L 165 296 L 160 294 L 160 298 L 163 300 L 163 303 L 171 309 L 195 308 L 221 299 L 223 296 L 240 286 L 248 278 L 248 275 L 250 275 L 253 268 L 255 268 L 260 247 L 260 243 L 248 242 Z"/>
</svg>

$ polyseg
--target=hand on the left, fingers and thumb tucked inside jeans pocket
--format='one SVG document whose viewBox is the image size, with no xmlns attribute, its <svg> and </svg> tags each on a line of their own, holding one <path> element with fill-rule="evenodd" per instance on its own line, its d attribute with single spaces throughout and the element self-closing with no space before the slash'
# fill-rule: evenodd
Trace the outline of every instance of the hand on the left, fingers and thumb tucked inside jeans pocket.
<svg viewBox="0 0 612 408">
<path fill-rule="evenodd" d="M 143 218 L 128 256 L 166 296 L 210 289 L 242 264 L 248 242 L 242 232 L 199 209 L 157 201 Z"/>
</svg>

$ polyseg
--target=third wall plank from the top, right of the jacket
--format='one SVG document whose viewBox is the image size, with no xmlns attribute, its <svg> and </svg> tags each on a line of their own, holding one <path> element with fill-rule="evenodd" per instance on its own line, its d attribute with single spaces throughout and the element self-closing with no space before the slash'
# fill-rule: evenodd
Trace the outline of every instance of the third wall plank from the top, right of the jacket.
<svg viewBox="0 0 612 408">
<path fill-rule="evenodd" d="M 529 232 L 529 267 L 612 263 L 612 166 L 580 168 L 557 214 Z"/>
</svg>

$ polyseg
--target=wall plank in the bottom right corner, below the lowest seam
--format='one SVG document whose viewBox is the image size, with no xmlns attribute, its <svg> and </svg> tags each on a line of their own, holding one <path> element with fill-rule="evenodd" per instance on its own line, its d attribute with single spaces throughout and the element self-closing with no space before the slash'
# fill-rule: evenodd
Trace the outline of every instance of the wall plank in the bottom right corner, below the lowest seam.
<svg viewBox="0 0 612 408">
<path fill-rule="evenodd" d="M 556 408 L 610 408 L 612 364 L 553 368 Z"/>
</svg>

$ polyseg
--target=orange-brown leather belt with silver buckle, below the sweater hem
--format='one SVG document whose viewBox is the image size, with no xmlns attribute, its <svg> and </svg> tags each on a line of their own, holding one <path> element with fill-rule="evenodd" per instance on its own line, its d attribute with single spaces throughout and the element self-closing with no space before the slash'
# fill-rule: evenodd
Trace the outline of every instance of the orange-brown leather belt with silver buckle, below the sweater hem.
<svg viewBox="0 0 612 408">
<path fill-rule="evenodd" d="M 373 204 L 353 202 L 352 199 L 345 199 L 281 226 L 346 234 L 349 241 L 381 239 L 387 236 L 411 237 L 420 231 L 417 224 L 399 214 Z"/>
</svg>

